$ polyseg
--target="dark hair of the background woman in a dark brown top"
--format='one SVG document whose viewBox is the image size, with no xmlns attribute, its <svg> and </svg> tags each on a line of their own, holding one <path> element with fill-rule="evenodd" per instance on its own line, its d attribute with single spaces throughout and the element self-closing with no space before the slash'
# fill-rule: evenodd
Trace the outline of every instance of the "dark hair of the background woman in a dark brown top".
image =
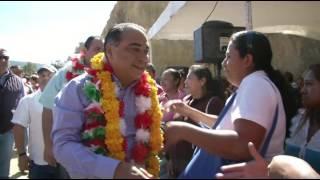
<svg viewBox="0 0 320 180">
<path fill-rule="evenodd" d="M 206 79 L 206 84 L 204 86 L 204 92 L 206 95 L 218 96 L 223 100 L 225 99 L 222 81 L 219 79 L 213 79 L 209 68 L 203 65 L 192 65 L 189 68 L 189 72 L 196 75 L 199 80 L 203 78 Z"/>
</svg>

